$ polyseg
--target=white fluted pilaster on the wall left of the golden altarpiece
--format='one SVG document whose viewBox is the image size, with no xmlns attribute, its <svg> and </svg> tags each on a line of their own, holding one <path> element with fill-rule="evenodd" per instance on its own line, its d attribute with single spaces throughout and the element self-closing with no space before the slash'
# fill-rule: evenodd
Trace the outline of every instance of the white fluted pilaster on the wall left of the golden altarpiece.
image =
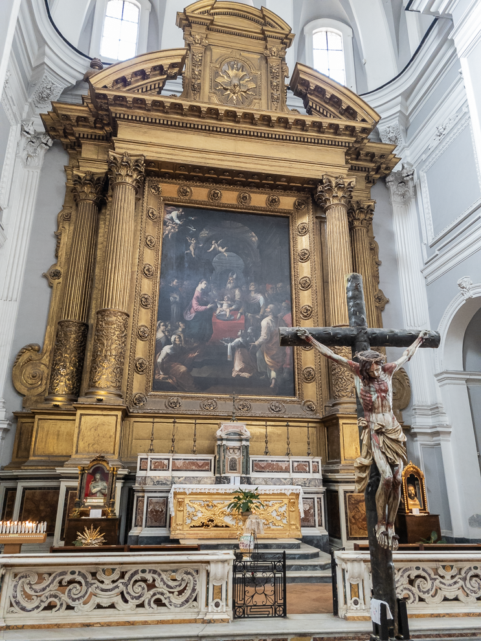
<svg viewBox="0 0 481 641">
<path fill-rule="evenodd" d="M 5 381 L 17 318 L 20 289 L 25 272 L 27 249 L 37 189 L 45 152 L 52 141 L 37 132 L 33 122 L 22 125 L 5 222 L 6 242 L 0 254 L 0 440 L 10 428 L 4 402 Z"/>
</svg>

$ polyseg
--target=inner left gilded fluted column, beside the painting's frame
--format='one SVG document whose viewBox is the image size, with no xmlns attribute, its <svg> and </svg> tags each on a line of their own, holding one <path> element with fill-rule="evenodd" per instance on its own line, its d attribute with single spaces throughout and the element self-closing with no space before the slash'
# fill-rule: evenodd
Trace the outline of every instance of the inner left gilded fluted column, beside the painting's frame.
<svg viewBox="0 0 481 641">
<path fill-rule="evenodd" d="M 129 320 L 135 195 L 144 178 L 144 156 L 110 152 L 109 177 L 112 205 L 87 394 L 121 397 Z"/>
</svg>

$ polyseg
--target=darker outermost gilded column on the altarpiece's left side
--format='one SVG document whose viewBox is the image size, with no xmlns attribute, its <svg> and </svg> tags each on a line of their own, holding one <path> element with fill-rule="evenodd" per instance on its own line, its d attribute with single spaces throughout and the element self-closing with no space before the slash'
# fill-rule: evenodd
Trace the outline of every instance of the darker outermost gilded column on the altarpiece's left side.
<svg viewBox="0 0 481 641">
<path fill-rule="evenodd" d="M 77 218 L 50 371 L 47 400 L 51 401 L 76 400 L 80 392 L 103 182 L 104 176 L 91 172 L 74 178 Z"/>
</svg>

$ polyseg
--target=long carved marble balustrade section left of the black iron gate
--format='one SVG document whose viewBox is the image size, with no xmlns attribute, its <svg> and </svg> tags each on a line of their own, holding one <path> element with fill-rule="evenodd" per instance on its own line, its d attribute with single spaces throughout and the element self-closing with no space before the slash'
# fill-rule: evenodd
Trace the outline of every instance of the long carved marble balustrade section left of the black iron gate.
<svg viewBox="0 0 481 641">
<path fill-rule="evenodd" d="M 231 551 L 0 559 L 0 627 L 232 620 Z"/>
</svg>

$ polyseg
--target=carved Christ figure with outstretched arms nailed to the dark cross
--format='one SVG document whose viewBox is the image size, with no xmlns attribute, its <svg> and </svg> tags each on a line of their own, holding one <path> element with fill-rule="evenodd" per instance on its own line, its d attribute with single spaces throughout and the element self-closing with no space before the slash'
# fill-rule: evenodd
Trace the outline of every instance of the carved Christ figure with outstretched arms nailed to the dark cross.
<svg viewBox="0 0 481 641">
<path fill-rule="evenodd" d="M 394 520 L 401 500 L 402 471 L 407 464 L 407 454 L 406 436 L 392 407 L 392 377 L 396 370 L 411 360 L 429 332 L 422 331 L 394 363 L 384 363 L 385 356 L 373 350 L 356 354 L 360 363 L 355 363 L 316 341 L 306 329 L 299 328 L 297 334 L 323 356 L 354 375 L 356 391 L 364 410 L 364 419 L 359 419 L 359 425 L 363 428 L 361 456 L 354 463 L 356 492 L 366 489 L 374 460 L 381 474 L 376 492 L 376 538 L 382 548 L 397 550 L 399 537 L 394 531 Z"/>
</svg>

